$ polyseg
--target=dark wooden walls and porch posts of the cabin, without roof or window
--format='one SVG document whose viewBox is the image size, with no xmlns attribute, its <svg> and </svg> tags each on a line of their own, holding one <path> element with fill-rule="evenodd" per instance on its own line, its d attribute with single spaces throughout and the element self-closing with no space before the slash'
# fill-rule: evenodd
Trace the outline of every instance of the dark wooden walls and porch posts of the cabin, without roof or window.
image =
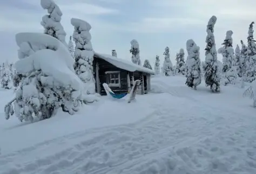
<svg viewBox="0 0 256 174">
<path fill-rule="evenodd" d="M 125 93 L 130 92 L 134 81 L 137 79 L 140 80 L 138 94 L 143 95 L 150 90 L 150 74 L 146 74 L 140 71 L 127 71 L 124 69 L 120 69 L 113 64 L 99 59 L 98 57 L 94 57 L 93 59 L 93 75 L 96 80 L 96 92 L 100 95 L 106 95 L 106 92 L 103 88 L 103 83 L 107 83 L 107 71 L 119 71 L 120 73 L 120 85 L 119 86 L 110 86 L 111 90 L 114 93 Z"/>
</svg>

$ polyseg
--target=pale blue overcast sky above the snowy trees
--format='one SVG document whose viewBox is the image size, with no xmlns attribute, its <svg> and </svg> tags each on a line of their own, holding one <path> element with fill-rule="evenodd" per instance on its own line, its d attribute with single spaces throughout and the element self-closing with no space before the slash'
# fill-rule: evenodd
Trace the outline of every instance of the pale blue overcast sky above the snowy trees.
<svg viewBox="0 0 256 174">
<path fill-rule="evenodd" d="M 163 62 L 164 49 L 170 48 L 171 60 L 180 48 L 186 52 L 186 41 L 193 39 L 205 60 L 206 25 L 212 15 L 217 17 L 214 34 L 217 49 L 225 39 L 226 31 L 233 31 L 233 46 L 246 42 L 248 26 L 256 20 L 256 1 L 253 0 L 55 0 L 63 12 L 62 25 L 69 35 L 71 18 L 91 24 L 92 46 L 98 53 L 111 54 L 131 60 L 130 41 L 140 45 L 140 58 L 154 63 L 156 55 Z M 246 2 L 246 3 L 245 3 Z M 40 22 L 47 11 L 40 0 L 0 1 L 1 61 L 17 60 L 15 34 L 43 32 Z M 222 56 L 218 54 L 218 60 Z"/>
</svg>

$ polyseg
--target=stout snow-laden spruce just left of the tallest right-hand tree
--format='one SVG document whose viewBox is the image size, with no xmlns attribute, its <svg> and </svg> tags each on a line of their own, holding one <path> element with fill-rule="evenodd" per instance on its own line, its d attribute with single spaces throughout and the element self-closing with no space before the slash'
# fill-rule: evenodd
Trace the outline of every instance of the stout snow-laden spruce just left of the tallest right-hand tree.
<svg viewBox="0 0 256 174">
<path fill-rule="evenodd" d="M 187 40 L 187 80 L 186 85 L 194 90 L 197 90 L 197 86 L 201 83 L 201 69 L 200 69 L 200 57 L 199 47 L 192 40 Z"/>
</svg>

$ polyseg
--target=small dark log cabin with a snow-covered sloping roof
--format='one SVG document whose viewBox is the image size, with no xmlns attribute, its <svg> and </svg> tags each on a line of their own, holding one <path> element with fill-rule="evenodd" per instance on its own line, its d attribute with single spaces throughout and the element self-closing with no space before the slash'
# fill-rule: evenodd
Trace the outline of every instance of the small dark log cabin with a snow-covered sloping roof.
<svg viewBox="0 0 256 174">
<path fill-rule="evenodd" d="M 103 83 L 107 83 L 114 93 L 130 92 L 134 81 L 140 79 L 138 94 L 144 95 L 151 89 L 151 75 L 154 71 L 130 61 L 107 54 L 95 53 L 93 56 L 93 75 L 96 92 L 106 95 Z"/>
</svg>

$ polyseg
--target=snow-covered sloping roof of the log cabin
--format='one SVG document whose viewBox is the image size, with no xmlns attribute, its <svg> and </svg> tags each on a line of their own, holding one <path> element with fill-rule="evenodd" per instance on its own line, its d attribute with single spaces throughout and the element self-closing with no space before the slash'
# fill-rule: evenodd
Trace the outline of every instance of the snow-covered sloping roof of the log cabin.
<svg viewBox="0 0 256 174">
<path fill-rule="evenodd" d="M 144 73 L 148 73 L 148 74 L 154 74 L 154 71 L 149 68 L 139 66 L 138 64 L 134 64 L 130 61 L 120 59 L 118 57 L 113 57 L 108 54 L 99 54 L 99 53 L 95 53 L 95 55 L 99 59 L 103 59 L 103 60 L 113 64 L 113 66 L 116 66 L 120 69 L 125 69 L 125 70 L 131 71 L 131 72 L 140 71 L 140 72 L 144 72 Z"/>
</svg>

